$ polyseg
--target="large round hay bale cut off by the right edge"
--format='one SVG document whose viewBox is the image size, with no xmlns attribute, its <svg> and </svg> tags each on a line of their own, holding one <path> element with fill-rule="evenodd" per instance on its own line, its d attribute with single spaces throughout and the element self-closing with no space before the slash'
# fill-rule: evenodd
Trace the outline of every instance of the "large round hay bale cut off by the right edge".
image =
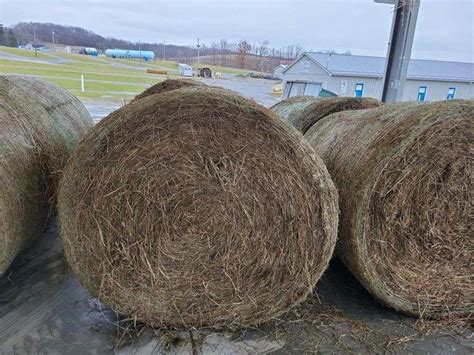
<svg viewBox="0 0 474 355">
<path fill-rule="evenodd" d="M 407 314 L 472 312 L 474 103 L 341 112 L 305 138 L 338 189 L 338 255 L 362 284 Z"/>
</svg>

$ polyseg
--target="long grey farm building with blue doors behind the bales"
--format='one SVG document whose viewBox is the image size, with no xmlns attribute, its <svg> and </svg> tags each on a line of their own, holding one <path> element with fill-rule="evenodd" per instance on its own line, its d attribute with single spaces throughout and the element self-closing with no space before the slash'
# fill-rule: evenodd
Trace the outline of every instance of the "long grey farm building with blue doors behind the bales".
<svg viewBox="0 0 474 355">
<path fill-rule="evenodd" d="M 303 53 L 283 70 L 283 98 L 318 96 L 321 89 L 339 96 L 380 99 L 385 58 Z M 472 99 L 474 64 L 410 60 L 403 101 Z"/>
</svg>

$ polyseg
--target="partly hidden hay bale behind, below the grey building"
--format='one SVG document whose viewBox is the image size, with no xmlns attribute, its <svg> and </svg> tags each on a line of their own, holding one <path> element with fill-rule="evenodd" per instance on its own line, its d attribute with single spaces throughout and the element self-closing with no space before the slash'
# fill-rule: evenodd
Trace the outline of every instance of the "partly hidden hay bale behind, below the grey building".
<svg viewBox="0 0 474 355">
<path fill-rule="evenodd" d="M 371 98 L 295 96 L 277 103 L 271 110 L 305 134 L 312 125 L 330 114 L 381 105 L 382 102 Z"/>
</svg>

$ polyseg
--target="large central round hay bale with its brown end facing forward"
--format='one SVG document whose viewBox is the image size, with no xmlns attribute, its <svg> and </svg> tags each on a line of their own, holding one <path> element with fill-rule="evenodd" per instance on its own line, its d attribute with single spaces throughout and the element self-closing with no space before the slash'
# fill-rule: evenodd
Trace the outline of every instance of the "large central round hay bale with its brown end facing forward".
<svg viewBox="0 0 474 355">
<path fill-rule="evenodd" d="M 149 96 L 96 125 L 58 205 L 81 283 L 154 327 L 278 316 L 311 292 L 337 234 L 335 188 L 303 137 L 205 87 Z"/>
</svg>

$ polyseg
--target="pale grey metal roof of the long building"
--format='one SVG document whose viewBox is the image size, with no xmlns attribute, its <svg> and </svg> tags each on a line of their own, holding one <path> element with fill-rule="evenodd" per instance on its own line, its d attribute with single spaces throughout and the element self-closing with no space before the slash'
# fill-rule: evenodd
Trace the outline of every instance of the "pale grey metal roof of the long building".
<svg viewBox="0 0 474 355">
<path fill-rule="evenodd" d="M 382 77 L 385 70 L 385 58 L 347 54 L 328 54 L 305 52 L 294 63 L 307 56 L 330 75 Z M 474 63 L 442 62 L 436 60 L 411 59 L 408 65 L 408 79 L 436 81 L 474 81 Z"/>
</svg>

